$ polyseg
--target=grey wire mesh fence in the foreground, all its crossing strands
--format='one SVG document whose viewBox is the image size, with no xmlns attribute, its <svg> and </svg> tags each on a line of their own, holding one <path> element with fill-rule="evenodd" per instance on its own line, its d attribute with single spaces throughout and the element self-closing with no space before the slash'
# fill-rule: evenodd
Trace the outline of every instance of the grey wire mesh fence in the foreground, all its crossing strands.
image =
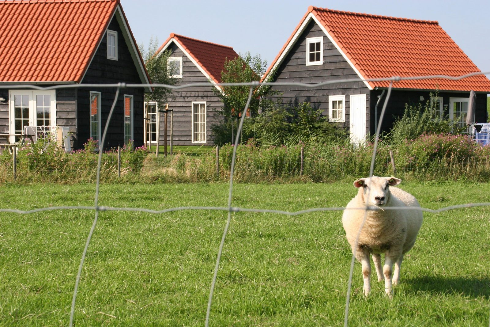
<svg viewBox="0 0 490 327">
<path fill-rule="evenodd" d="M 231 205 L 232 204 L 232 193 L 233 193 L 234 165 L 235 165 L 236 152 L 237 152 L 237 147 L 238 147 L 239 134 L 242 130 L 243 121 L 245 118 L 245 113 L 246 113 L 248 104 L 250 102 L 250 99 L 252 97 L 252 91 L 253 91 L 254 87 L 258 87 L 258 86 L 262 86 L 262 85 L 264 85 L 264 86 L 285 85 L 285 86 L 297 86 L 297 87 L 304 87 L 304 88 L 318 88 L 318 87 L 321 87 L 324 85 L 334 84 L 334 83 L 347 83 L 347 82 L 357 82 L 357 81 L 364 81 L 364 82 L 389 81 L 390 85 L 388 87 L 387 97 L 386 97 L 385 102 L 383 104 L 383 109 L 381 111 L 378 129 L 376 131 L 376 135 L 374 138 L 374 148 L 373 148 L 373 152 L 372 152 L 372 159 L 371 159 L 370 172 L 369 172 L 369 177 L 371 177 L 371 176 L 373 176 L 376 151 L 377 151 L 379 135 L 380 135 L 380 130 L 381 130 L 381 122 L 385 116 L 386 107 L 387 107 L 387 104 L 390 100 L 390 95 L 391 95 L 391 91 L 393 88 L 392 87 L 393 82 L 397 82 L 397 81 L 401 81 L 401 80 L 420 80 L 420 79 L 435 79 L 435 78 L 460 80 L 460 79 L 464 79 L 464 78 L 467 78 L 470 76 L 488 75 L 488 74 L 490 74 L 490 73 L 475 72 L 475 73 L 461 75 L 461 76 L 425 75 L 425 76 L 410 76 L 410 77 L 392 76 L 389 78 L 373 78 L 373 79 L 351 78 L 351 79 L 338 79 L 338 80 L 331 80 L 331 81 L 325 81 L 325 82 L 321 82 L 321 83 L 311 83 L 311 84 L 296 83 L 296 82 L 258 82 L 258 81 L 254 81 L 254 82 L 248 82 L 248 83 L 218 83 L 218 84 L 190 83 L 190 84 L 183 84 L 183 85 L 176 85 L 176 86 L 175 85 L 165 85 L 165 84 L 130 84 L 130 83 L 61 84 L 61 85 L 54 85 L 54 86 L 0 85 L 0 89 L 35 89 L 35 90 L 55 90 L 55 89 L 62 89 L 62 88 L 67 89 L 67 88 L 90 88 L 90 87 L 116 88 L 117 89 L 116 95 L 114 97 L 114 101 L 112 103 L 111 110 L 110 110 L 109 116 L 108 116 L 106 124 L 105 124 L 104 132 L 103 132 L 102 137 L 101 137 L 102 144 L 104 144 L 104 140 L 105 140 L 105 137 L 107 134 L 108 126 L 110 124 L 112 113 L 114 111 L 116 102 L 118 101 L 119 92 L 123 88 L 126 88 L 126 87 L 130 87 L 130 88 L 164 87 L 164 88 L 169 88 L 172 90 L 180 90 L 180 89 L 191 88 L 191 87 L 196 87 L 196 86 L 211 86 L 211 85 L 217 85 L 217 86 L 249 86 L 250 87 L 247 104 L 245 105 L 245 108 L 243 110 L 242 119 L 240 121 L 240 125 L 239 125 L 237 135 L 236 135 L 235 144 L 233 147 L 233 158 L 232 158 L 231 170 L 230 170 L 230 176 L 229 176 L 230 187 L 229 187 L 228 206 L 227 207 L 183 206 L 183 207 L 169 208 L 169 209 L 164 209 L 164 210 L 151 210 L 151 209 L 147 209 L 147 208 L 99 206 L 98 205 L 98 196 L 99 196 L 99 192 L 100 192 L 100 169 L 101 169 L 101 159 L 102 159 L 102 147 L 100 147 L 99 154 L 98 154 L 97 180 L 96 180 L 94 206 L 53 206 L 53 207 L 45 207 L 45 208 L 36 208 L 33 210 L 19 210 L 19 209 L 0 208 L 0 212 L 10 212 L 10 213 L 17 213 L 17 214 L 32 214 L 32 213 L 36 213 L 36 212 L 50 211 L 50 210 L 94 210 L 95 211 L 94 221 L 93 221 L 92 227 L 89 231 L 89 235 L 88 235 L 88 238 L 87 238 L 87 241 L 85 244 L 85 248 L 82 252 L 82 257 L 80 260 L 80 266 L 78 269 L 78 274 L 76 276 L 75 285 L 74 285 L 74 289 L 73 289 L 73 299 L 72 299 L 72 306 L 71 306 L 71 311 L 70 311 L 70 326 L 73 326 L 75 302 L 76 302 L 76 295 L 77 295 L 77 291 L 78 291 L 79 281 L 80 281 L 81 273 L 83 270 L 83 264 L 85 261 L 85 256 L 86 256 L 87 250 L 90 246 L 90 241 L 91 241 L 92 235 L 93 235 L 95 228 L 96 228 L 96 225 L 97 225 L 99 212 L 101 212 L 101 211 L 139 211 L 139 212 L 147 212 L 147 213 L 152 213 L 152 214 L 162 214 L 162 213 L 166 213 L 166 212 L 179 211 L 179 210 L 221 210 L 221 211 L 227 211 L 228 212 L 228 218 L 227 218 L 226 225 L 224 227 L 224 231 L 223 231 L 222 238 L 221 238 L 220 248 L 218 251 L 217 261 L 216 261 L 215 270 L 214 270 L 213 279 L 212 279 L 212 284 L 210 287 L 208 306 L 207 306 L 207 310 L 206 310 L 205 326 L 207 327 L 209 325 L 211 306 L 212 306 L 212 302 L 213 302 L 213 292 L 214 292 L 216 279 L 218 276 L 221 253 L 222 253 L 222 250 L 224 247 L 227 230 L 228 230 L 230 222 L 231 222 L 231 214 L 232 213 L 235 213 L 235 212 L 256 212 L 256 213 L 275 213 L 275 214 L 284 214 L 284 215 L 294 216 L 294 215 L 300 215 L 300 214 L 305 214 L 305 213 L 309 213 L 309 212 L 340 211 L 340 210 L 345 209 L 345 207 L 310 208 L 310 209 L 296 211 L 296 212 L 288 212 L 288 211 L 282 211 L 282 210 L 240 208 L 240 207 L 233 207 Z M 455 210 L 455 209 L 469 208 L 469 207 L 478 207 L 478 206 L 490 206 L 490 202 L 466 203 L 466 204 L 446 206 L 446 207 L 442 207 L 440 209 L 428 209 L 428 208 L 420 208 L 420 207 L 406 207 L 406 208 L 384 207 L 384 209 L 385 210 L 390 210 L 390 209 L 421 210 L 424 212 L 440 213 L 440 212 L 448 211 L 448 210 Z M 359 231 L 357 233 L 357 238 L 356 238 L 355 244 L 358 243 L 359 235 L 360 235 L 361 230 L 363 228 L 363 225 L 366 221 L 367 212 L 370 209 L 373 209 L 373 207 L 371 207 L 369 205 L 366 205 L 365 207 L 362 207 L 362 208 L 352 208 L 351 209 L 351 210 L 364 210 L 364 212 L 365 212 L 364 220 L 363 220 L 363 223 L 361 224 Z M 354 247 L 354 248 L 356 248 L 356 247 Z M 347 292 L 346 292 L 346 296 L 345 296 L 345 298 L 346 298 L 345 311 L 344 311 L 344 326 L 345 327 L 348 326 L 348 313 L 349 313 L 349 303 L 350 303 L 349 300 L 350 300 L 350 291 L 351 291 L 354 262 L 355 262 L 355 250 L 352 253 L 352 260 L 351 260 L 351 266 L 350 266 L 350 271 L 349 271 L 349 279 L 348 279 L 348 284 L 347 284 Z M 490 327 L 490 314 L 489 314 L 489 327 Z"/>
</svg>

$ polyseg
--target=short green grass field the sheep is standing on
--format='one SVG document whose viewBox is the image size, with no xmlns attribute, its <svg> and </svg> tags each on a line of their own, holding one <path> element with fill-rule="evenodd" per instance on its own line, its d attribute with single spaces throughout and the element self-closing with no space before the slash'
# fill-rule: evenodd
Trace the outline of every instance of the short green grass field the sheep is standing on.
<svg viewBox="0 0 490 327">
<path fill-rule="evenodd" d="M 422 206 L 488 202 L 490 184 L 402 183 Z M 2 208 L 93 205 L 95 185 L 2 185 Z M 297 211 L 344 206 L 351 183 L 236 184 L 233 206 Z M 228 184 L 101 185 L 99 205 L 226 206 Z M 210 326 L 343 326 L 351 260 L 341 211 L 235 213 Z M 0 213 L 0 325 L 68 326 L 90 210 Z M 225 211 L 100 212 L 75 326 L 203 326 Z M 401 283 L 362 294 L 356 262 L 349 326 L 488 326 L 490 208 L 424 213 Z"/>
</svg>

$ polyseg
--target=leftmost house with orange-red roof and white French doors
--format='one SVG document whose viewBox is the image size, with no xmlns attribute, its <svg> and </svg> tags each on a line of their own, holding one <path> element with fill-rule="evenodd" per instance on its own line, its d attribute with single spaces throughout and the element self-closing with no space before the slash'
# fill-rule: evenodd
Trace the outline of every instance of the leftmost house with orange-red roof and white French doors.
<svg viewBox="0 0 490 327">
<path fill-rule="evenodd" d="M 119 0 L 0 0 L 0 12 L 0 133 L 11 143 L 25 126 L 67 126 L 74 149 L 100 143 L 116 88 L 94 84 L 149 84 Z M 104 148 L 143 145 L 145 91 L 121 89 Z"/>
</svg>

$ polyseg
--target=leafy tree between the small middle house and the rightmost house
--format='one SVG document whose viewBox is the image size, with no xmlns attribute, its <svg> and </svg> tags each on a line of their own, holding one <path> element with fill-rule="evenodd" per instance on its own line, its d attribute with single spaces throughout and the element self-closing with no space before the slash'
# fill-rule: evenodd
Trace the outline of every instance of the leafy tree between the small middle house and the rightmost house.
<svg viewBox="0 0 490 327">
<path fill-rule="evenodd" d="M 250 52 L 246 52 L 245 56 L 226 60 L 221 72 L 222 83 L 246 83 L 259 82 L 262 75 L 266 72 L 267 60 L 262 61 L 260 55 L 251 56 Z M 269 74 L 266 81 L 269 81 L 274 74 Z M 237 115 L 245 108 L 248 99 L 249 86 L 221 86 L 220 92 L 213 88 L 213 92 L 224 103 L 224 116 L 230 118 L 232 115 Z M 264 95 L 270 90 L 270 86 L 256 86 L 253 88 L 253 96 L 250 101 L 249 110 L 251 116 L 255 116 L 259 109 L 265 110 L 272 103 L 266 100 Z M 270 92 L 269 92 L 270 94 Z"/>
</svg>

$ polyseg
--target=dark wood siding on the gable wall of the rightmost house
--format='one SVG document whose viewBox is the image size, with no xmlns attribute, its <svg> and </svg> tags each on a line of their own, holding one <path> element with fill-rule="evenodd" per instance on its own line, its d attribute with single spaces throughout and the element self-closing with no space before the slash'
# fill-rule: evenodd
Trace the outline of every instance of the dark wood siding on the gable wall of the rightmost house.
<svg viewBox="0 0 490 327">
<path fill-rule="evenodd" d="M 311 37 L 323 37 L 323 64 L 306 65 L 306 39 Z M 276 82 L 300 82 L 320 83 L 339 79 L 359 78 L 350 67 L 321 28 L 312 20 L 291 47 L 289 53 L 278 67 L 274 81 Z M 318 88 L 304 88 L 297 86 L 273 86 L 282 94 L 283 103 L 289 107 L 297 106 L 302 102 L 310 102 L 315 109 L 321 109 L 323 115 L 328 115 L 328 96 L 345 95 L 345 122 L 339 125 L 349 127 L 349 96 L 354 94 L 366 94 L 366 121 L 368 125 L 369 113 L 369 89 L 362 81 L 338 82 L 327 84 Z M 277 98 L 277 96 L 270 96 Z"/>
</svg>

